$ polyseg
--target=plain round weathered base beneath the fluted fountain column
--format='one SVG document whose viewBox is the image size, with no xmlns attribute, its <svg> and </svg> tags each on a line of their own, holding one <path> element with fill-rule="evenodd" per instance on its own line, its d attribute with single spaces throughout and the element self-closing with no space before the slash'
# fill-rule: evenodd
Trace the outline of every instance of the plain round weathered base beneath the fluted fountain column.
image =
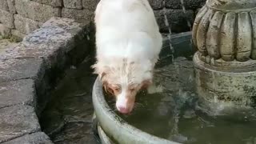
<svg viewBox="0 0 256 144">
<path fill-rule="evenodd" d="M 194 54 L 195 81 L 201 100 L 228 106 L 256 106 L 256 67 L 211 66 Z"/>
</svg>

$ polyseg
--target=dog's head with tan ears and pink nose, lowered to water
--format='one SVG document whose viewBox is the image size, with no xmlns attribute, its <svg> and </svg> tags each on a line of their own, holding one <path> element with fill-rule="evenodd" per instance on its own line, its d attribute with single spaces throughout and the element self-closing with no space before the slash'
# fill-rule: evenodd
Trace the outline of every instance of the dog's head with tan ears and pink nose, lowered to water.
<svg viewBox="0 0 256 144">
<path fill-rule="evenodd" d="M 134 109 L 136 94 L 152 83 L 152 64 L 128 62 L 123 59 L 111 64 L 96 63 L 93 68 L 99 75 L 105 90 L 116 98 L 116 107 L 122 114 Z"/>
</svg>

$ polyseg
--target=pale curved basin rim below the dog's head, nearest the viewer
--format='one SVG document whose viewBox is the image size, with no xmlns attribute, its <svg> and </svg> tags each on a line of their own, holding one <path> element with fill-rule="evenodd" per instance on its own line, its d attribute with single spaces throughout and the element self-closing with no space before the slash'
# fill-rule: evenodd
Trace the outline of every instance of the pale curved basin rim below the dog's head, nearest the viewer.
<svg viewBox="0 0 256 144">
<path fill-rule="evenodd" d="M 108 106 L 102 90 L 102 82 L 97 78 L 93 88 L 94 113 L 102 130 L 119 143 L 154 143 L 154 144 L 179 144 L 164 138 L 148 134 L 125 122 Z M 118 130 L 118 133 L 116 133 Z"/>
</svg>

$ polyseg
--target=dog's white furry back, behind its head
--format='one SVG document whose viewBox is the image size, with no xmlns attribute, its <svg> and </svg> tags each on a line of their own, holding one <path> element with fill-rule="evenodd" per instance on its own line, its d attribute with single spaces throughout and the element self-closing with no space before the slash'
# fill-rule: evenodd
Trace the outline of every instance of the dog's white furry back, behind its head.
<svg viewBox="0 0 256 144">
<path fill-rule="evenodd" d="M 158 58 L 162 36 L 147 0 L 102 0 L 95 24 L 98 60 Z"/>
</svg>

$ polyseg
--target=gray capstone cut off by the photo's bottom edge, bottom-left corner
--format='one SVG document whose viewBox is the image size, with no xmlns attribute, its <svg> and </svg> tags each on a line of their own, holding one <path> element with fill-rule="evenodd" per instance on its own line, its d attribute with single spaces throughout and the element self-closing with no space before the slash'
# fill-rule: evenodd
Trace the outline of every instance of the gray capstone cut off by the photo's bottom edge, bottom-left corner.
<svg viewBox="0 0 256 144">
<path fill-rule="evenodd" d="M 4 142 L 3 144 L 53 144 L 50 138 L 42 132 L 34 134 L 26 134 L 20 138 L 15 138 L 9 142 Z"/>
</svg>

